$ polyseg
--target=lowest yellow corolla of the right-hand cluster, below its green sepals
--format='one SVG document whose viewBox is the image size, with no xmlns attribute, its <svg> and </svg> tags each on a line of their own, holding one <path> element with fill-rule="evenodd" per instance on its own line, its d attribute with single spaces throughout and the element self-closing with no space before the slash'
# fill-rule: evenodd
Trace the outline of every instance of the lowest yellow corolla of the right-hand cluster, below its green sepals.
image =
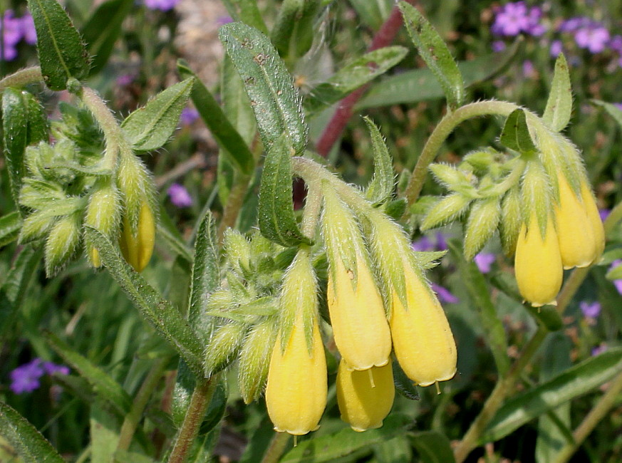
<svg viewBox="0 0 622 463">
<path fill-rule="evenodd" d="M 514 256 L 514 269 L 519 291 L 532 306 L 555 303 L 561 288 L 563 270 L 559 242 L 550 216 L 544 239 L 535 214 L 529 220 L 529 228 L 522 225 Z"/>
</svg>

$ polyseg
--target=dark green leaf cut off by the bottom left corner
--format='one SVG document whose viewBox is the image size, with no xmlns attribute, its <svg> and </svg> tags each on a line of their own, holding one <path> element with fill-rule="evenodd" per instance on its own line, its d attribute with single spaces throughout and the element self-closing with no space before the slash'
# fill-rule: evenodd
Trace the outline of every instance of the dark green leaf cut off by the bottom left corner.
<svg viewBox="0 0 622 463">
<path fill-rule="evenodd" d="M 0 402 L 0 435 L 9 441 L 25 462 L 65 462 L 36 427 L 4 402 Z"/>
</svg>

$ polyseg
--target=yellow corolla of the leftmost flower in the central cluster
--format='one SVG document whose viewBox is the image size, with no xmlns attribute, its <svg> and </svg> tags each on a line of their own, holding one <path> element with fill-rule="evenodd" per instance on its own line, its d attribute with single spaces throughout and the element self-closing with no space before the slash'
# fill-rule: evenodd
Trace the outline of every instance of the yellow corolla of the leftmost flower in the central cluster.
<svg viewBox="0 0 622 463">
<path fill-rule="evenodd" d="M 266 407 L 274 430 L 301 436 L 318 429 L 326 407 L 326 358 L 317 320 L 311 350 L 307 348 L 302 314 L 296 317 L 284 352 L 280 334 L 274 344 L 266 385 Z"/>
</svg>

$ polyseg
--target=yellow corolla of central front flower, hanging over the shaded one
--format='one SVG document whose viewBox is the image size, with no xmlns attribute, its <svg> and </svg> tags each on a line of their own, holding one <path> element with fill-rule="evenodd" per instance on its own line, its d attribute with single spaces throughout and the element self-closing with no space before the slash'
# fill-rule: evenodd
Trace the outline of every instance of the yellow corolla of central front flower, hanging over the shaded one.
<svg viewBox="0 0 622 463">
<path fill-rule="evenodd" d="M 386 365 L 391 353 L 391 333 L 380 297 L 366 261 L 357 259 L 356 290 L 352 274 L 336 261 L 328 273 L 328 311 L 341 357 L 354 370 Z M 333 281 L 332 274 L 336 275 Z"/>
</svg>

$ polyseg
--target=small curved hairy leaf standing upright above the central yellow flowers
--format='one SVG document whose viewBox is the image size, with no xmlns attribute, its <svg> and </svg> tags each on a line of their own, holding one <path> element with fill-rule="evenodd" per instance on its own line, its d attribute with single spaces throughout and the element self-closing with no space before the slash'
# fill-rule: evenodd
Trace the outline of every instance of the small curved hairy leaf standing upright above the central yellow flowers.
<svg viewBox="0 0 622 463">
<path fill-rule="evenodd" d="M 369 129 L 373 148 L 373 177 L 365 196 L 371 202 L 383 202 L 393 194 L 395 188 L 393 159 L 378 127 L 368 117 L 363 118 L 363 120 Z"/>
</svg>

